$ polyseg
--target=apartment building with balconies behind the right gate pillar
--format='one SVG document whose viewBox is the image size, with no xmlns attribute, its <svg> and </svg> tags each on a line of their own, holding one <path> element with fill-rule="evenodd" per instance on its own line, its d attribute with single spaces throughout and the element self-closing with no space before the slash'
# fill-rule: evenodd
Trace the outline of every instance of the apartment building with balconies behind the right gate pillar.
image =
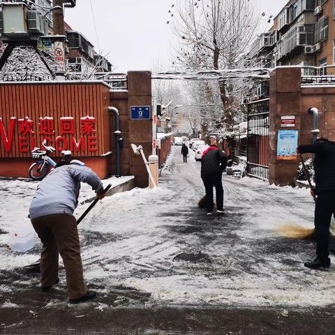
<svg viewBox="0 0 335 335">
<path fill-rule="evenodd" d="M 335 64 L 335 0 L 290 0 L 274 17 L 269 31 L 251 45 L 248 66 L 332 66 Z M 303 75 L 334 74 L 334 68 L 303 68 Z M 267 82 L 258 82 L 253 96 L 264 98 Z"/>
</svg>

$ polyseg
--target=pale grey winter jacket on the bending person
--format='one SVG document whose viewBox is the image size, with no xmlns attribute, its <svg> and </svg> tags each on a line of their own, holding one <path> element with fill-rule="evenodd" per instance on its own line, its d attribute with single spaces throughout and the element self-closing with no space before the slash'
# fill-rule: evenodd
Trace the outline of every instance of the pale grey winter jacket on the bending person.
<svg viewBox="0 0 335 335">
<path fill-rule="evenodd" d="M 78 204 L 80 181 L 96 191 L 103 191 L 101 180 L 90 168 L 80 165 L 64 165 L 52 170 L 38 185 L 29 207 L 30 218 L 50 214 L 69 214 Z"/>
</svg>

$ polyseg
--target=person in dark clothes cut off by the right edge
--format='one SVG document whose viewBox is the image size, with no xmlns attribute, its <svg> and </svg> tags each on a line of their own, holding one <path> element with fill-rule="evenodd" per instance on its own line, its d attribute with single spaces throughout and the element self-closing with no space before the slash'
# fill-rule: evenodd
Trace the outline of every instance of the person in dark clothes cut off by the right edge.
<svg viewBox="0 0 335 335">
<path fill-rule="evenodd" d="M 316 258 L 306 262 L 305 267 L 319 269 L 330 267 L 329 259 L 329 225 L 335 213 L 335 142 L 320 138 L 311 145 L 299 145 L 299 154 L 315 154 L 315 237 Z M 312 194 L 313 195 L 313 194 Z"/>
</svg>

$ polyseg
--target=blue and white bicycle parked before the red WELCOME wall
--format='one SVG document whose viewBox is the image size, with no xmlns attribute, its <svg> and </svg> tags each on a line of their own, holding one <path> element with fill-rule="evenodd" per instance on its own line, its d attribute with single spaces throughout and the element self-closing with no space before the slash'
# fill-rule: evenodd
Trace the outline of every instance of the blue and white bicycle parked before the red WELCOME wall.
<svg viewBox="0 0 335 335">
<path fill-rule="evenodd" d="M 29 168 L 29 177 L 34 180 L 42 180 L 51 168 L 55 168 L 57 163 L 50 157 L 50 155 L 56 151 L 54 147 L 46 145 L 47 140 L 44 140 L 42 145 L 45 150 L 35 148 L 31 151 L 31 156 L 38 159 L 38 161 L 31 165 Z M 71 156 L 71 151 L 61 151 L 63 155 L 62 161 L 66 161 Z"/>
</svg>

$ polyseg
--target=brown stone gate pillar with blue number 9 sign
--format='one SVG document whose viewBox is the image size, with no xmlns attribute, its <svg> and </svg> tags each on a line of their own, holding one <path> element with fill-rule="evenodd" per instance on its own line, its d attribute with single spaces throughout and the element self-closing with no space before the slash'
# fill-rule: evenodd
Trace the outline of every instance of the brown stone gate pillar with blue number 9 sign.
<svg viewBox="0 0 335 335">
<path fill-rule="evenodd" d="M 142 145 L 148 158 L 152 154 L 152 120 L 131 120 L 131 106 L 151 106 L 151 72 L 128 72 L 128 117 L 129 142 Z M 152 112 L 152 110 L 151 110 Z M 131 150 L 128 149 L 128 150 Z M 135 176 L 138 187 L 147 187 L 149 177 L 141 156 L 130 152 L 130 173 Z"/>
</svg>

